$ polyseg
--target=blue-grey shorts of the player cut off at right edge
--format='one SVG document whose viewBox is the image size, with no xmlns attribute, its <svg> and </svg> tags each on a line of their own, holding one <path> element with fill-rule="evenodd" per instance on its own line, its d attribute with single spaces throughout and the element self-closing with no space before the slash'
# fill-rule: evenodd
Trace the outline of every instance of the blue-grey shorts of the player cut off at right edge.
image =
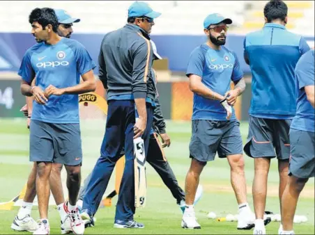
<svg viewBox="0 0 315 235">
<path fill-rule="evenodd" d="M 297 178 L 314 177 L 315 133 L 290 129 L 291 156 L 289 175 Z"/>
</svg>

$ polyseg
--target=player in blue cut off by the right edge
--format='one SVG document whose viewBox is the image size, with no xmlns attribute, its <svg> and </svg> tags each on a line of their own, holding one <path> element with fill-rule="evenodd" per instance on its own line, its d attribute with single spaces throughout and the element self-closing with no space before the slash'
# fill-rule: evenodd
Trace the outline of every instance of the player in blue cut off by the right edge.
<svg viewBox="0 0 315 235">
<path fill-rule="evenodd" d="M 282 195 L 282 226 L 279 234 L 294 234 L 293 218 L 298 197 L 310 177 L 315 175 L 315 81 L 314 49 L 307 51 L 295 67 L 298 102 L 290 127 L 291 157 L 289 179 Z"/>
</svg>

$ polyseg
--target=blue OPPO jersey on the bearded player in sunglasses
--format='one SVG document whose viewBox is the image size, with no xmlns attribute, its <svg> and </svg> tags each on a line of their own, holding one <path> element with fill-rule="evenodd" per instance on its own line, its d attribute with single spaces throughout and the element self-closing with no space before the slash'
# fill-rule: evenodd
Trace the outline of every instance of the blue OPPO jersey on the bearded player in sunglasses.
<svg viewBox="0 0 315 235">
<path fill-rule="evenodd" d="M 243 78 L 240 63 L 236 54 L 226 47 L 215 50 L 202 44 L 192 51 L 186 75 L 195 74 L 201 77 L 201 82 L 220 95 L 231 90 L 231 80 L 238 81 Z M 231 120 L 236 115 L 233 108 Z M 226 121 L 226 111 L 219 100 L 208 99 L 194 93 L 192 120 Z"/>
</svg>

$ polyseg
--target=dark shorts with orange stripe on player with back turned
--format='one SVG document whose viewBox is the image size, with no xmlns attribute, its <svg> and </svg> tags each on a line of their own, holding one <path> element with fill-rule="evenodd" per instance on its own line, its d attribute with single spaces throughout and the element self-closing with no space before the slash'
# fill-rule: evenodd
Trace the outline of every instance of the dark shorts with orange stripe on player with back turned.
<svg viewBox="0 0 315 235">
<path fill-rule="evenodd" d="M 275 120 L 249 115 L 249 131 L 244 152 L 252 158 L 287 160 L 290 156 L 291 120 Z"/>
</svg>

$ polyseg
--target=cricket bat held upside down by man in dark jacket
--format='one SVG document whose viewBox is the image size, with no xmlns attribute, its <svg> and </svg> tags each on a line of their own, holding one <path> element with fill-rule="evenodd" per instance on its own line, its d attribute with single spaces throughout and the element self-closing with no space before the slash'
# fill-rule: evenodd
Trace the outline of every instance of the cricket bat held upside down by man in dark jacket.
<svg viewBox="0 0 315 235">
<path fill-rule="evenodd" d="M 146 155 L 144 140 L 141 137 L 133 140 L 135 155 L 135 207 L 146 206 Z"/>
</svg>

